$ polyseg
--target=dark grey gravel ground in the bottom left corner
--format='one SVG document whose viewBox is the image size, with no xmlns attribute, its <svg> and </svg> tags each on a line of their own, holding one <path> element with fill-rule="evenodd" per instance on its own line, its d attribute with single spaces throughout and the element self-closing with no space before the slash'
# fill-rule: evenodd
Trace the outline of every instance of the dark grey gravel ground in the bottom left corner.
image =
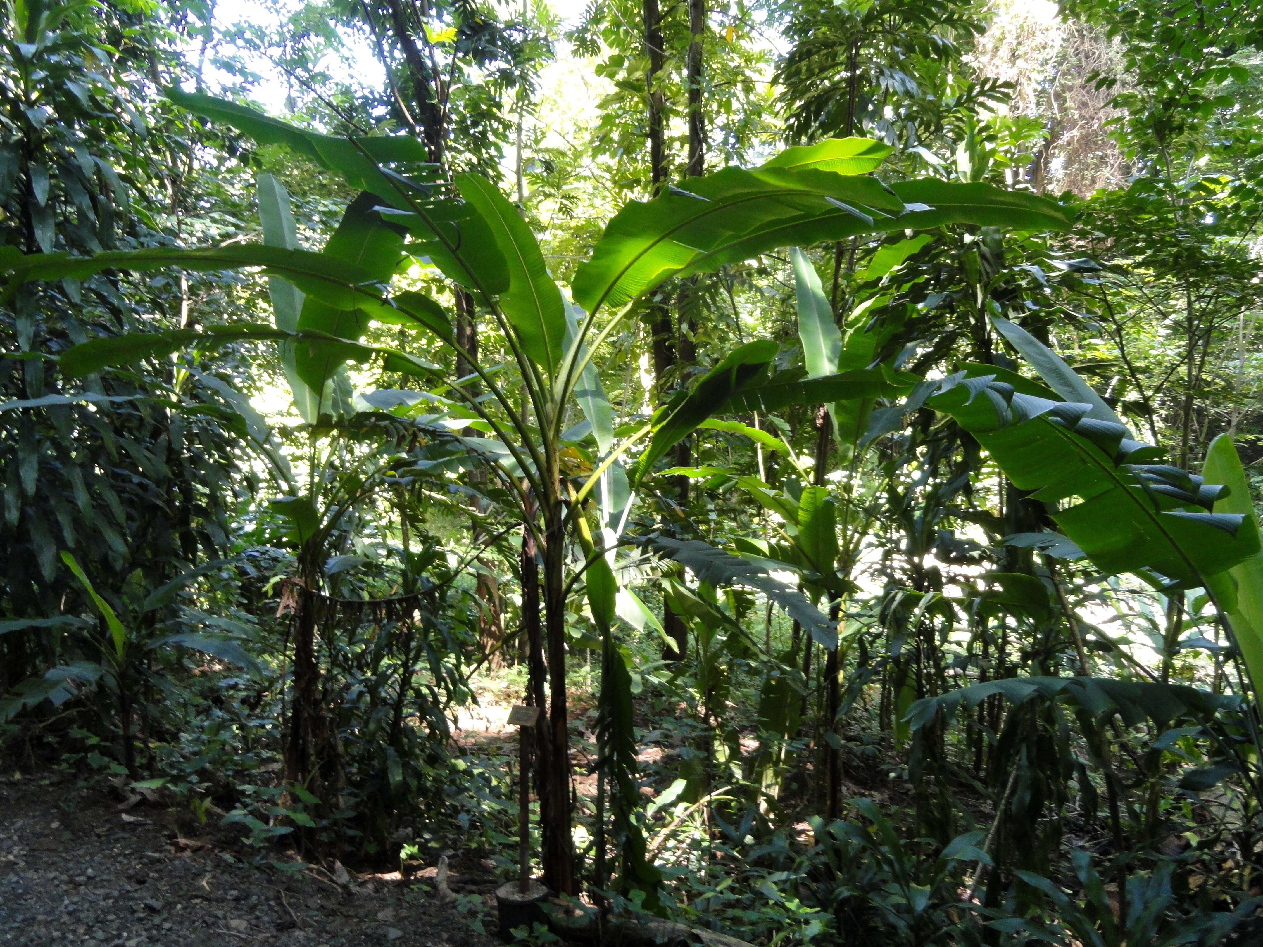
<svg viewBox="0 0 1263 947">
<path fill-rule="evenodd" d="M 128 808 L 106 782 L 58 773 L 0 777 L 0 944 L 85 947 L 490 947 L 490 871 L 453 866 L 354 875 L 340 865 L 282 871 L 165 804 Z M 126 801 L 124 801 L 125 803 Z M 183 814 L 183 813 L 181 813 Z M 467 875 L 461 875 L 461 870 Z M 464 908 L 467 913 L 461 913 Z"/>
</svg>

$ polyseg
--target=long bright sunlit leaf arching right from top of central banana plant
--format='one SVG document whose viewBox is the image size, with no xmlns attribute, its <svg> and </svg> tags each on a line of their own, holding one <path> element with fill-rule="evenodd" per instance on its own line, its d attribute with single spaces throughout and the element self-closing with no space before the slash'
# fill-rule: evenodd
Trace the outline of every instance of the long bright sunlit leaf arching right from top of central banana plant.
<svg viewBox="0 0 1263 947">
<path fill-rule="evenodd" d="M 576 270 L 575 301 L 589 312 L 620 307 L 668 277 L 859 234 L 950 222 L 1015 230 L 1070 226 L 1056 203 L 1034 194 L 954 182 L 884 188 L 875 178 L 779 167 L 777 160 L 753 170 L 725 168 L 690 179 L 688 192 L 625 205 L 591 259 Z"/>
</svg>

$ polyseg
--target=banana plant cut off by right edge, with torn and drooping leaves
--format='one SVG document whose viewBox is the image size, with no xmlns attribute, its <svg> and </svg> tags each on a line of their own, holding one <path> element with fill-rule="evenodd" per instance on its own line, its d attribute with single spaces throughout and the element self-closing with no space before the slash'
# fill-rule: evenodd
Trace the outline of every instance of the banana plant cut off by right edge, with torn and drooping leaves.
<svg viewBox="0 0 1263 947">
<path fill-rule="evenodd" d="M 1166 595 L 1205 588 L 1258 701 L 1263 644 L 1254 625 L 1259 615 L 1254 583 L 1263 545 L 1231 441 L 1215 444 L 1204 476 L 1156 462 L 1162 451 L 1133 439 L 1109 405 L 1055 352 L 1007 319 L 993 316 L 993 322 L 1047 386 L 997 366 L 969 365 L 940 381 L 926 404 L 950 414 L 1017 489 L 1046 504 L 1060 529 L 1050 542 L 1068 539 L 1077 547 L 1075 556 L 1100 572 L 1132 573 Z M 1177 694 L 1172 684 L 1014 678 L 921 701 L 906 718 L 914 727 L 940 711 L 950 718 L 961 701 L 976 703 L 988 687 L 1015 702 L 1036 693 L 1070 694 L 1092 715 L 1119 708 L 1125 720 L 1135 718 L 1138 710 L 1129 716 L 1133 705 L 1127 703 L 1133 701 L 1159 724 L 1181 706 L 1204 715 L 1219 706 L 1211 694 L 1187 687 Z M 1254 715 L 1242 716 L 1258 753 L 1263 740 Z"/>
</svg>

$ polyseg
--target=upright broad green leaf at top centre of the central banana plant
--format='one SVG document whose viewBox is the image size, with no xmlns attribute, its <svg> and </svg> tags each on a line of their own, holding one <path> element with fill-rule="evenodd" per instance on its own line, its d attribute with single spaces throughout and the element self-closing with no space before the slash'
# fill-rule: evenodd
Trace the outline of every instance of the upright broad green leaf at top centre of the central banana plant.
<svg viewBox="0 0 1263 947">
<path fill-rule="evenodd" d="M 566 308 L 534 234 L 499 188 L 481 174 L 457 174 L 456 186 L 488 222 L 508 263 L 509 288 L 500 294 L 504 314 L 523 351 L 553 375 L 566 340 Z"/>
</svg>

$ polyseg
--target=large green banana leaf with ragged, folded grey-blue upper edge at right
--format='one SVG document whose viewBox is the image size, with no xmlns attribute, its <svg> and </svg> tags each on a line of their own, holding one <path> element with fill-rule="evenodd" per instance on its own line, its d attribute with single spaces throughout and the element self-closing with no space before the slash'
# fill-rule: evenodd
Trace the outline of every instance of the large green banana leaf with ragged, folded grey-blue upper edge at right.
<svg viewBox="0 0 1263 947">
<path fill-rule="evenodd" d="M 966 372 L 945 379 L 927 404 L 974 434 L 1014 486 L 1056 504 L 1052 519 L 1103 572 L 1204 586 L 1259 552 L 1252 520 L 1210 511 L 1220 487 L 1137 462 L 1152 448 L 1130 441 L 1120 424 L 1089 417 L 1089 404 Z"/>
</svg>

